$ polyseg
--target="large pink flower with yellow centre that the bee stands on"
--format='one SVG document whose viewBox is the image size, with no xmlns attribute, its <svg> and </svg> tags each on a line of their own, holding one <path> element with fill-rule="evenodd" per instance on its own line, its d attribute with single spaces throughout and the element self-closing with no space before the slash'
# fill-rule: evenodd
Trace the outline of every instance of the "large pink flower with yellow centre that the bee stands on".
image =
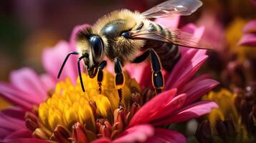
<svg viewBox="0 0 256 143">
<path fill-rule="evenodd" d="M 168 19 L 158 22 L 173 23 Z M 200 38 L 203 28 L 189 24 L 184 30 Z M 61 65 L 62 54 L 72 50 L 74 43 L 64 45 L 67 51 L 59 51 L 59 46 L 44 51 L 47 73 L 43 77 L 22 69 L 11 74 L 11 84 L 0 84 L 1 94 L 18 106 L 1 111 L 3 142 L 186 142 L 179 132 L 160 126 L 194 119 L 218 107 L 214 102 L 198 101 L 218 84 L 207 75 L 194 78 L 208 57 L 206 50 L 181 47 L 181 59 L 171 73 L 164 73 L 166 88 L 157 96 L 146 90 L 151 87 L 149 64 L 127 64 L 123 104 L 118 107 L 114 77 L 108 71 L 104 71 L 103 94 L 98 93 L 97 81 L 86 74 L 82 76 L 87 92 L 82 92 L 76 82 L 75 58 L 68 61 L 64 77 L 57 81 L 56 65 Z"/>
</svg>

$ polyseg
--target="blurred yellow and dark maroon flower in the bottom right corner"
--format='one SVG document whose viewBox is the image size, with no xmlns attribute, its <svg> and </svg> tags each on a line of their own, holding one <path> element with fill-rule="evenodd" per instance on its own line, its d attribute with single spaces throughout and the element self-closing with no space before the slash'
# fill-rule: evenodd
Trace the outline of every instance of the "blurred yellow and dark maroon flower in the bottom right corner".
<svg viewBox="0 0 256 143">
<path fill-rule="evenodd" d="M 247 87 L 245 93 L 227 89 L 209 92 L 203 100 L 219 105 L 213 109 L 196 130 L 199 142 L 255 142 L 255 84 Z"/>
</svg>

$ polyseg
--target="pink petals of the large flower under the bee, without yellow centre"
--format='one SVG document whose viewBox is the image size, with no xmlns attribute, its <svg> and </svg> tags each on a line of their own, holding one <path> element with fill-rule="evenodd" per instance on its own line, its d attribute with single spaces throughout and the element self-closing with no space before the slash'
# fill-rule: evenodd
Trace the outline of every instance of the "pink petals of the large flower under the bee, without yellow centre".
<svg viewBox="0 0 256 143">
<path fill-rule="evenodd" d="M 178 24 L 178 20 L 179 17 L 176 21 L 158 19 L 158 22 L 169 27 L 169 24 Z M 77 26 L 72 35 L 80 28 L 81 26 Z M 204 31 L 204 28 L 196 28 L 193 24 L 183 29 L 198 38 Z M 39 105 L 47 99 L 47 92 L 54 89 L 57 83 L 57 72 L 64 56 L 72 50 L 74 50 L 72 41 L 70 44 L 62 41 L 54 49 L 44 51 L 42 61 L 46 74 L 39 76 L 32 69 L 24 68 L 11 73 L 10 84 L 0 82 L 1 96 L 16 105 L 0 112 L 0 139 L 3 142 L 48 142 L 32 138 L 32 132 L 27 129 L 29 124 L 27 120 L 25 121 L 24 115 L 26 111 L 31 111 L 34 105 Z M 181 47 L 181 59 L 171 73 L 164 73 L 165 91 L 138 109 L 124 131 L 115 139 L 101 137 L 93 142 L 186 142 L 185 137 L 179 132 L 161 129 L 158 126 L 194 119 L 218 107 L 214 102 L 198 101 L 202 95 L 218 84 L 207 75 L 194 78 L 194 74 L 207 57 L 206 50 Z M 70 77 L 72 82 L 75 82 L 77 78 L 75 58 L 68 61 L 68 68 L 64 69 L 62 79 Z M 149 64 L 142 64 L 142 66 L 127 64 L 125 69 L 142 88 L 151 86 L 151 80 L 148 80 L 151 79 Z M 82 137 L 79 133 L 76 133 L 76 137 Z"/>
</svg>

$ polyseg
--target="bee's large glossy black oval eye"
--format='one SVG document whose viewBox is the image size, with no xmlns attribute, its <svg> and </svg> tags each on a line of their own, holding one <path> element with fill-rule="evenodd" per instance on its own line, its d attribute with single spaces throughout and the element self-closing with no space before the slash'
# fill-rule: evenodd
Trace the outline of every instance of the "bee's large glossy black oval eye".
<svg viewBox="0 0 256 143">
<path fill-rule="evenodd" d="M 90 44 L 92 45 L 93 59 L 97 61 L 103 54 L 103 40 L 100 36 L 91 36 Z"/>
</svg>

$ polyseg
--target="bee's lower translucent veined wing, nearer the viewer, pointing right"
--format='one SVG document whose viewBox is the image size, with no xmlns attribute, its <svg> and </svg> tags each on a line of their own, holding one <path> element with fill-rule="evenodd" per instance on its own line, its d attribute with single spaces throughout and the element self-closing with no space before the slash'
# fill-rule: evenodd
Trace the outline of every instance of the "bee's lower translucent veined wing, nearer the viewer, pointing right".
<svg viewBox="0 0 256 143">
<path fill-rule="evenodd" d="M 193 34 L 181 31 L 181 29 L 168 29 L 171 34 L 166 36 L 162 31 L 136 31 L 131 34 L 131 39 L 146 39 L 153 41 L 163 41 L 179 46 L 186 46 L 196 49 L 213 49 L 206 41 L 196 38 Z"/>
</svg>

